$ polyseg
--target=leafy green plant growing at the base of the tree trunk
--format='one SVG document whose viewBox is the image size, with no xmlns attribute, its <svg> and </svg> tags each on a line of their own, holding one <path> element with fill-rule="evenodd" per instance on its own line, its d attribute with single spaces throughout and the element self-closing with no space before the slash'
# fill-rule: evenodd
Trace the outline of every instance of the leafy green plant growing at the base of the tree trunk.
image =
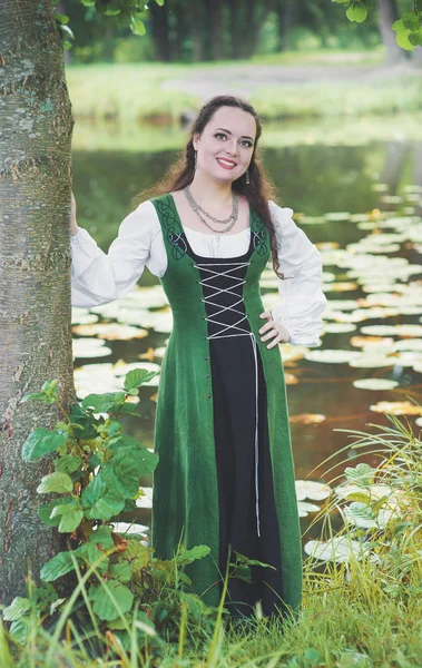
<svg viewBox="0 0 422 668">
<path fill-rule="evenodd" d="M 126 434 L 119 421 L 125 414 L 137 415 L 128 400 L 154 375 L 143 369 L 130 371 L 124 391 L 89 394 L 72 404 L 69 413 L 60 404 L 56 380 L 22 399 L 55 403 L 61 412 L 53 429 L 31 431 L 22 456 L 30 465 L 55 454 L 55 470 L 37 488 L 39 494 L 48 495 L 39 517 L 69 534 L 70 542 L 67 551 L 42 566 L 40 578 L 46 584 L 32 587 L 28 598 L 16 598 L 4 609 L 3 618 L 12 622 L 10 633 L 17 641 L 24 642 L 33 610 L 43 621 L 69 600 L 86 629 L 98 630 L 122 648 L 130 644 L 134 623 L 139 640 L 151 636 L 150 642 L 159 646 L 158 633 L 167 640 L 176 638 L 180 606 L 188 631 L 192 627 L 197 633 L 202 625 L 210 630 L 216 609 L 189 591 L 192 581 L 184 572 L 188 563 L 208 554 L 209 548 L 187 550 L 179 544 L 175 558 L 164 561 L 153 557 L 154 549 L 141 537 L 126 538 L 114 530 L 114 518 L 136 508 L 144 493 L 140 479 L 158 463 L 158 455 Z M 73 589 L 70 599 L 59 599 L 51 582 L 68 573 L 84 581 L 84 587 L 77 598 Z"/>
</svg>

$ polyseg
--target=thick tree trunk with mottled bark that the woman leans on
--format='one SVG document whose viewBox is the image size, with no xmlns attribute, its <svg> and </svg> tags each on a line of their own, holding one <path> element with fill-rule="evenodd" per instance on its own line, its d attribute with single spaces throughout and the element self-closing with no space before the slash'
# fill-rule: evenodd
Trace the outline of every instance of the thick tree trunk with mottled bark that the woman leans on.
<svg viewBox="0 0 422 668">
<path fill-rule="evenodd" d="M 60 549 L 41 523 L 37 487 L 50 464 L 23 463 L 32 428 L 55 406 L 21 403 L 58 379 L 75 401 L 70 330 L 73 120 L 50 0 L 0 2 L 0 602 L 24 591 Z M 45 499 L 43 499 L 45 500 Z M 42 501 L 43 501 L 42 500 Z"/>
</svg>

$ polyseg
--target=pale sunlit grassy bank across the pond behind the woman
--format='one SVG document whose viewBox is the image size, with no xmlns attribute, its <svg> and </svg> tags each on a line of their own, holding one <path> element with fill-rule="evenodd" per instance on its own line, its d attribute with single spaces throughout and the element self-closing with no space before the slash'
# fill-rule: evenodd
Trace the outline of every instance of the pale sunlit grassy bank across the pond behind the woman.
<svg viewBox="0 0 422 668">
<path fill-rule="evenodd" d="M 288 60 L 289 59 L 289 60 Z M 335 61 L 330 59 L 330 69 Z M 266 85 L 254 76 L 255 66 L 266 68 Z M 236 85 L 245 85 L 245 97 L 256 106 L 267 120 L 324 119 L 335 116 L 386 116 L 396 112 L 413 114 L 422 109 L 422 85 L 419 73 L 392 75 L 361 82 L 353 79 L 356 61 L 343 62 L 351 68 L 349 81 L 312 81 L 302 84 L 277 82 L 281 66 L 306 68 L 318 65 L 315 56 L 284 55 L 284 61 L 235 61 L 200 65 L 137 63 L 69 66 L 67 80 L 72 101 L 73 117 L 78 121 L 110 120 L 115 124 L 154 122 L 161 126 L 177 121 L 186 110 L 196 111 L 202 99 L 195 91 L 195 81 L 207 75 L 216 78 L 220 91 L 227 92 Z M 357 61 L 357 65 L 361 62 Z M 232 69 L 229 69 L 232 68 Z M 241 68 L 238 73 L 233 68 Z M 236 70 L 237 71 L 237 70 Z M 268 77 L 274 73 L 274 85 Z M 347 76 L 347 75 L 345 75 Z M 167 82 L 175 80 L 171 87 Z M 180 82 L 184 82 L 183 90 Z M 186 91 L 186 81 L 188 81 Z M 178 82 L 178 84 L 177 84 Z M 198 85 L 198 84 L 197 84 Z M 174 86 L 174 87 L 173 87 Z M 215 87 L 213 88 L 215 91 Z"/>
</svg>

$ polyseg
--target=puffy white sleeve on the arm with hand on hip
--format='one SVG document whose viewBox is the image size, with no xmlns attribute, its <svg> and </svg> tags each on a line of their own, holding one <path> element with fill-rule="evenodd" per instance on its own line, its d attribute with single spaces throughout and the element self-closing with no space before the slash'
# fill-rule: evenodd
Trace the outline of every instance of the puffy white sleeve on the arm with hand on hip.
<svg viewBox="0 0 422 668">
<path fill-rule="evenodd" d="M 289 343 L 317 346 L 326 304 L 321 254 L 293 220 L 293 209 L 272 200 L 268 204 L 276 229 L 279 272 L 284 274 L 284 279 L 278 279 L 281 301 L 272 311 L 273 320 L 288 331 Z"/>
</svg>

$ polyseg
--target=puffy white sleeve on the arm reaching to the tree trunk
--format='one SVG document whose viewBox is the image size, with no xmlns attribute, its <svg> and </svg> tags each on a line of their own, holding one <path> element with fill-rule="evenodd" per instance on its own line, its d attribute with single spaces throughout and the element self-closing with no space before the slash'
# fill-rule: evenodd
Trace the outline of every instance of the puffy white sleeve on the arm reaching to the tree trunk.
<svg viewBox="0 0 422 668">
<path fill-rule="evenodd" d="M 150 200 L 140 204 L 120 223 L 107 254 L 80 227 L 70 237 L 72 306 L 98 306 L 122 297 L 143 275 L 159 232 Z"/>
</svg>

